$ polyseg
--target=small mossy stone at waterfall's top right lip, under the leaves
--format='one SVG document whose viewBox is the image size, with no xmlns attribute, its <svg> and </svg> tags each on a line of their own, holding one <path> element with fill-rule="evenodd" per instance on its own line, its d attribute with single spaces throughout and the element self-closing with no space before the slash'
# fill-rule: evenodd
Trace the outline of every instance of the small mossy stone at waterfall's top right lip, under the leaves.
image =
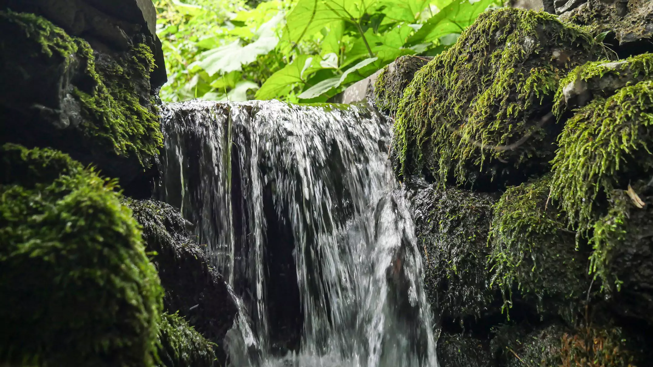
<svg viewBox="0 0 653 367">
<path fill-rule="evenodd" d="M 387 65 L 374 82 L 374 104 L 384 114 L 394 116 L 404 89 L 413 80 L 415 72 L 421 69 L 433 57 L 400 56 L 394 63 Z"/>
</svg>

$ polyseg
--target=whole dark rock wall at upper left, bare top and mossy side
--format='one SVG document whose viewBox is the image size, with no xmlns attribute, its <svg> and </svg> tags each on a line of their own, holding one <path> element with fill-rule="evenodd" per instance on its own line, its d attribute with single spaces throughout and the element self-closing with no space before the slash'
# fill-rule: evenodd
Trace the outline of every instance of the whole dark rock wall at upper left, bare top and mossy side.
<svg viewBox="0 0 653 367">
<path fill-rule="evenodd" d="M 0 142 L 50 146 L 150 195 L 165 63 L 149 2 L 0 1 Z M 146 172 L 144 172 L 146 171 Z"/>
</svg>

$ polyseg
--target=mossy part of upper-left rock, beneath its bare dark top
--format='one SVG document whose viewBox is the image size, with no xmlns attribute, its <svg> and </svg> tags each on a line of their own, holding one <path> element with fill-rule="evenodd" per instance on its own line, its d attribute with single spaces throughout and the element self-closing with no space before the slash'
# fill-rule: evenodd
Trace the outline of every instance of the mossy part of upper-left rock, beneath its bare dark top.
<svg viewBox="0 0 653 367">
<path fill-rule="evenodd" d="M 145 43 L 95 52 L 50 21 L 0 10 L 0 142 L 48 146 L 127 184 L 162 145 Z"/>
</svg>

